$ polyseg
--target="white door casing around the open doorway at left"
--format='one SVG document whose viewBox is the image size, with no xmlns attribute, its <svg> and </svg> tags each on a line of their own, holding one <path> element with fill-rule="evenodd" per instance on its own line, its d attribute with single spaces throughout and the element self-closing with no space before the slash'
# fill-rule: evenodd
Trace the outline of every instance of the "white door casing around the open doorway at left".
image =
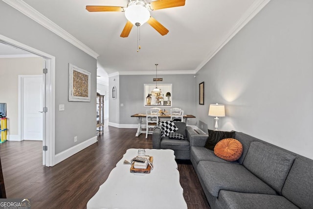
<svg viewBox="0 0 313 209">
<path fill-rule="evenodd" d="M 1 34 L 0 42 L 9 46 L 22 48 L 23 50 L 29 51 L 45 59 L 47 73 L 44 104 L 45 107 L 47 107 L 47 112 L 45 113 L 45 119 L 43 123 L 43 138 L 45 139 L 45 145 L 48 147 L 48 149 L 45 151 L 45 153 L 43 153 L 43 159 L 45 159 L 43 164 L 45 166 L 53 166 L 55 164 L 55 57 Z"/>
</svg>

